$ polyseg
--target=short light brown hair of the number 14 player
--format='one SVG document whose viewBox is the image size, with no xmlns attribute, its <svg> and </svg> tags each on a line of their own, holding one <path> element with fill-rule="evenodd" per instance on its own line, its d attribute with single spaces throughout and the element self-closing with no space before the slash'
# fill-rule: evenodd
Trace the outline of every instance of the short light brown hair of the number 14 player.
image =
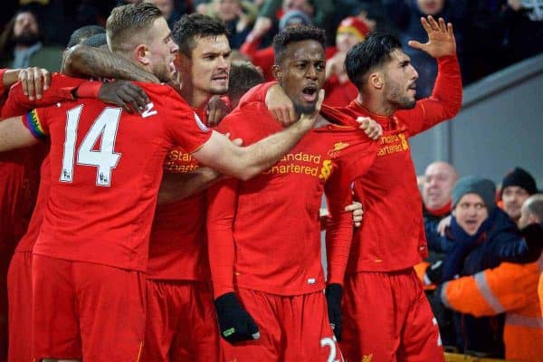
<svg viewBox="0 0 543 362">
<path fill-rule="evenodd" d="M 106 22 L 106 34 L 111 52 L 128 51 L 125 43 L 134 39 L 138 32 L 148 30 L 162 13 L 149 3 L 121 5 L 111 10 Z"/>
</svg>

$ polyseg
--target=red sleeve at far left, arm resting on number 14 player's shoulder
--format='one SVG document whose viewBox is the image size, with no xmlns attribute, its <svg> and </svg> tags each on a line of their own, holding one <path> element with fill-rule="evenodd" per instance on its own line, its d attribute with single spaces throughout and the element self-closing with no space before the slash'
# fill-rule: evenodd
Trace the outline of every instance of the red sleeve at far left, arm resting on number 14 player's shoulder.
<svg viewBox="0 0 543 362">
<path fill-rule="evenodd" d="M 60 101 L 74 100 L 73 90 L 84 81 L 54 73 L 51 76 L 51 87 L 43 91 L 41 100 L 30 100 L 28 96 L 24 95 L 21 82 L 17 81 L 9 91 L 9 96 L 2 109 L 2 118 L 19 116 L 34 108 L 51 106 Z"/>
</svg>

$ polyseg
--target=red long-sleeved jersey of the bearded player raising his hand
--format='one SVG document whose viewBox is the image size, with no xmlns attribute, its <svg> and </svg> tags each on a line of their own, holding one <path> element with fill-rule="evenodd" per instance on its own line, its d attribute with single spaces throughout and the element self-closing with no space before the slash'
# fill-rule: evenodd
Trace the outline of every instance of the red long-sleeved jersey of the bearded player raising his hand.
<svg viewBox="0 0 543 362">
<path fill-rule="evenodd" d="M 432 96 L 417 101 L 413 110 L 384 117 L 370 113 L 356 100 L 342 109 L 322 108 L 322 113 L 342 114 L 342 119 L 371 117 L 384 130 L 374 164 L 354 184 L 355 198 L 364 205 L 364 218 L 354 234 L 348 272 L 402 270 L 426 256 L 422 199 L 409 138 L 451 119 L 461 105 L 460 67 L 457 58 L 450 56 L 438 60 Z"/>
</svg>

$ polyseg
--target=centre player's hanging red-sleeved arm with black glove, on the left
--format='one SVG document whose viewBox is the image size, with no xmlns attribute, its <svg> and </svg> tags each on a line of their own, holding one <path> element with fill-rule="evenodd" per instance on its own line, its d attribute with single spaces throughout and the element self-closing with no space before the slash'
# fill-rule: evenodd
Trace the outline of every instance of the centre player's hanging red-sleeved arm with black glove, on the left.
<svg viewBox="0 0 543 362">
<path fill-rule="evenodd" d="M 230 178 L 207 192 L 207 240 L 214 306 L 221 337 L 229 343 L 258 339 L 258 326 L 233 291 L 233 219 L 238 181 Z"/>
</svg>

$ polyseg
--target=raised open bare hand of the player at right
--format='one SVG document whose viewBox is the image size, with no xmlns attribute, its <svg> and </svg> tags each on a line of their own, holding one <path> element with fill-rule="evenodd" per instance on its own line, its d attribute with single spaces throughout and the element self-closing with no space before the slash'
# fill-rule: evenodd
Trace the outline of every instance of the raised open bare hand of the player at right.
<svg viewBox="0 0 543 362">
<path fill-rule="evenodd" d="M 433 58 L 440 58 L 456 53 L 456 40 L 454 39 L 454 33 L 452 33 L 451 23 L 445 24 L 442 17 L 439 18 L 438 23 L 432 16 L 428 16 L 427 20 L 421 17 L 421 23 L 428 34 L 428 42 L 419 43 L 410 40 L 408 43 L 409 46 L 427 52 Z"/>
</svg>

